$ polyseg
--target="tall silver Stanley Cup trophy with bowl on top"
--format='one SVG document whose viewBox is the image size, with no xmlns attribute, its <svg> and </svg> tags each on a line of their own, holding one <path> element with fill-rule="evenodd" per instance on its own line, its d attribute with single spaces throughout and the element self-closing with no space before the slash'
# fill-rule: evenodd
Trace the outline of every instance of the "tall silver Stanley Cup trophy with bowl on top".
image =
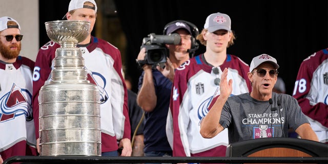
<svg viewBox="0 0 328 164">
<path fill-rule="evenodd" d="M 52 78 L 39 91 L 41 156 L 101 156 L 100 96 L 87 80 L 82 52 L 90 23 L 80 20 L 46 22 L 47 35 L 60 45 Z"/>
</svg>

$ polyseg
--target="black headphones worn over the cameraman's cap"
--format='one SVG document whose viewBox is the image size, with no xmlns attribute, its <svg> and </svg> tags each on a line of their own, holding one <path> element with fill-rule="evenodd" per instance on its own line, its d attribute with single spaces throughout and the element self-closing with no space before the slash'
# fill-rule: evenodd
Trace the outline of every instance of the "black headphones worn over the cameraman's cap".
<svg viewBox="0 0 328 164">
<path fill-rule="evenodd" d="M 182 22 L 185 23 L 186 25 L 189 26 L 190 30 L 191 30 L 191 48 L 190 50 L 188 50 L 189 54 L 191 55 L 191 57 L 194 56 L 195 51 L 198 49 L 199 44 L 197 43 L 196 37 L 199 34 L 198 28 L 196 25 L 186 21 L 186 20 L 174 20 L 170 23 L 168 23 L 167 25 L 165 25 L 164 30 L 163 30 L 163 34 L 166 35 L 166 31 L 168 30 L 168 27 L 172 24 L 175 24 L 177 22 Z"/>
</svg>

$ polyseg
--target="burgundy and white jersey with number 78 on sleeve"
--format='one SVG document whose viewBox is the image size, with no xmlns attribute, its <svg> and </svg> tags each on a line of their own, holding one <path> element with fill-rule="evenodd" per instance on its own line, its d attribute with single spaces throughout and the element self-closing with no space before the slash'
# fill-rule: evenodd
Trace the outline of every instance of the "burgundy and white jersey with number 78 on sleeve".
<svg viewBox="0 0 328 164">
<path fill-rule="evenodd" d="M 304 59 L 295 81 L 293 97 L 309 117 L 320 142 L 328 143 L 328 49 Z"/>
</svg>

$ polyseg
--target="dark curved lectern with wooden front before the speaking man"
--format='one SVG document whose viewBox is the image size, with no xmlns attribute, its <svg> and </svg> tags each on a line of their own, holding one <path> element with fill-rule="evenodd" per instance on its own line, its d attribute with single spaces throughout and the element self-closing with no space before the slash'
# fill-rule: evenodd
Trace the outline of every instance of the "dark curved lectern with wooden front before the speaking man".
<svg viewBox="0 0 328 164">
<path fill-rule="evenodd" d="M 227 157 L 328 157 L 328 145 L 300 138 L 259 138 L 227 147 Z"/>
</svg>

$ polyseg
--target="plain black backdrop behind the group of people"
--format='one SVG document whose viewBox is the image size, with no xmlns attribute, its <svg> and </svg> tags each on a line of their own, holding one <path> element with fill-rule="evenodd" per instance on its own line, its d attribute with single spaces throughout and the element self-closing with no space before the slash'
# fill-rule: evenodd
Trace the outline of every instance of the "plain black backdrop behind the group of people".
<svg viewBox="0 0 328 164">
<path fill-rule="evenodd" d="M 39 2 L 40 45 L 43 45 L 48 40 L 45 31 L 42 30 L 43 23 L 63 17 L 67 12 L 69 1 Z M 228 53 L 239 56 L 248 64 L 254 56 L 262 53 L 274 56 L 278 60 L 279 76 L 284 79 L 288 94 L 293 92 L 302 60 L 328 46 L 328 1 L 115 0 L 114 2 L 122 30 L 127 37 L 125 63 L 127 63 L 127 73 L 134 80 L 133 83 L 137 83 L 141 73 L 136 69 L 135 58 L 142 38 L 149 33 L 162 34 L 163 27 L 176 19 L 192 22 L 201 31 L 209 14 L 215 12 L 228 14 L 232 19 L 232 30 L 237 36 L 235 45 L 228 48 Z M 200 46 L 196 54 L 204 50 L 204 46 Z"/>
</svg>

